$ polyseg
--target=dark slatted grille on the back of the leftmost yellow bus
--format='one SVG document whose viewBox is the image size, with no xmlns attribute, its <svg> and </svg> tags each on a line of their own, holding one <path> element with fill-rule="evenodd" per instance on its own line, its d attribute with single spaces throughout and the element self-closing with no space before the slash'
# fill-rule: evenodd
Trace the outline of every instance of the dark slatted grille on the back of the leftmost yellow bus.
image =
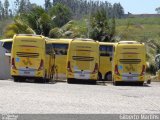
<svg viewBox="0 0 160 120">
<path fill-rule="evenodd" d="M 38 58 L 39 53 L 29 53 L 29 52 L 17 52 L 16 55 L 18 57 L 30 57 L 30 58 Z"/>
</svg>

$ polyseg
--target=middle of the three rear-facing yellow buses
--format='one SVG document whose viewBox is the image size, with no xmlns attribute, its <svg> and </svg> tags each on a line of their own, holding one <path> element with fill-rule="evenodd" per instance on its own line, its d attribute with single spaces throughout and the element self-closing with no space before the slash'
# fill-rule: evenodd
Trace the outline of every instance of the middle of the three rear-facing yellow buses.
<svg viewBox="0 0 160 120">
<path fill-rule="evenodd" d="M 73 39 L 69 43 L 67 55 L 67 82 L 78 79 L 96 83 L 98 69 L 99 43 L 91 39 Z"/>
</svg>

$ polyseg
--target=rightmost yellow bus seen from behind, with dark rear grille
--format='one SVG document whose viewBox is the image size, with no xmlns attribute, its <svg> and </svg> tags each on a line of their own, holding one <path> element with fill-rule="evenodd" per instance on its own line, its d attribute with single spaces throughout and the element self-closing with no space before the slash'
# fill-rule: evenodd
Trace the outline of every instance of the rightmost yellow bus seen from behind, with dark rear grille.
<svg viewBox="0 0 160 120">
<path fill-rule="evenodd" d="M 115 44 L 113 83 L 137 82 L 143 85 L 146 70 L 146 50 L 143 43 L 121 41 Z"/>
</svg>

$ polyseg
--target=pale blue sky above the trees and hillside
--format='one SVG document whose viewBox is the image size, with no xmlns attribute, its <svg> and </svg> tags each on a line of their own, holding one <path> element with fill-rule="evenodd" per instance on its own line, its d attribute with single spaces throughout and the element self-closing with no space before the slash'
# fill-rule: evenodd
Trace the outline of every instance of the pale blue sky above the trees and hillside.
<svg viewBox="0 0 160 120">
<path fill-rule="evenodd" d="M 14 1 L 14 0 L 9 0 L 9 1 Z M 30 0 L 30 1 L 32 3 L 44 5 L 45 0 Z M 106 1 L 106 0 L 101 0 L 101 1 Z M 130 12 L 133 14 L 143 14 L 143 13 L 153 14 L 156 13 L 155 8 L 160 7 L 160 0 L 107 0 L 107 1 L 112 4 L 120 2 L 125 10 L 125 13 Z M 13 2 L 11 4 L 13 4 Z"/>
</svg>

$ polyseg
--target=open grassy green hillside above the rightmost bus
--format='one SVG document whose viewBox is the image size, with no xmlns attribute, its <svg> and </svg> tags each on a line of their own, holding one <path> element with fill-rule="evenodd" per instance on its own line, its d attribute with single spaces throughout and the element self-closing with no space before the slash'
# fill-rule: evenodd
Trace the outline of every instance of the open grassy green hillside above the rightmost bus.
<svg viewBox="0 0 160 120">
<path fill-rule="evenodd" d="M 138 41 L 160 38 L 160 18 L 117 19 L 116 35 Z"/>
</svg>

